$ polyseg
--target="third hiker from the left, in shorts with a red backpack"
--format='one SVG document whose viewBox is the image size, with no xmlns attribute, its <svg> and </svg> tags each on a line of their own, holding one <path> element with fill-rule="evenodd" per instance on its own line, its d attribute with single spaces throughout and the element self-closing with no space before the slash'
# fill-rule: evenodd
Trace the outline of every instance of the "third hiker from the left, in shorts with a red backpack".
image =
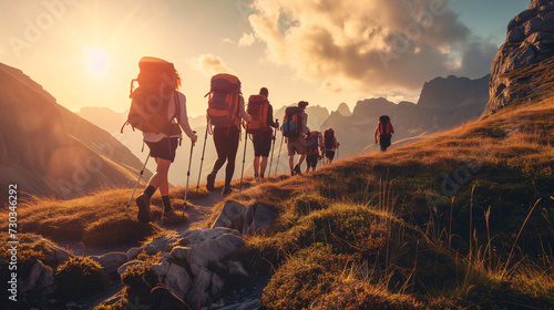
<svg viewBox="0 0 554 310">
<path fill-rule="evenodd" d="M 266 173 L 267 157 L 271 152 L 271 141 L 275 138 L 271 127 L 279 127 L 279 123 L 274 121 L 274 108 L 267 101 L 269 91 L 261 87 L 259 95 L 252 95 L 248 99 L 247 113 L 253 117 L 248 126 L 254 144 L 254 178 L 256 180 L 264 179 Z"/>
</svg>

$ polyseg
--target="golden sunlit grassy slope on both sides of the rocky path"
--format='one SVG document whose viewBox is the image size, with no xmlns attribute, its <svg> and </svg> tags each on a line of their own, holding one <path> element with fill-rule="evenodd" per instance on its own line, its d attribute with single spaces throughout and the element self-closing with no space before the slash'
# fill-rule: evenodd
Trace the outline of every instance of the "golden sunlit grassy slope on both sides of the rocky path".
<svg viewBox="0 0 554 310">
<path fill-rule="evenodd" d="M 554 307 L 554 83 L 547 74 L 532 83 L 540 91 L 519 107 L 230 197 L 279 214 L 275 229 L 248 237 L 235 257 L 250 271 L 275 271 L 265 306 Z M 136 208 L 125 213 L 130 195 L 22 203 L 18 225 L 85 245 L 142 240 L 160 228 L 136 223 Z M 6 215 L 0 223 L 7 230 Z"/>
</svg>

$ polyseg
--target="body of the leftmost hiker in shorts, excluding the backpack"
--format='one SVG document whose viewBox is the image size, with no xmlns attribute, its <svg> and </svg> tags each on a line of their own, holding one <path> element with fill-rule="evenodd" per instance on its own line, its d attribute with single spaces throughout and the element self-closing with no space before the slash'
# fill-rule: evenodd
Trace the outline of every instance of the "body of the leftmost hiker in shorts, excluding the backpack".
<svg viewBox="0 0 554 310">
<path fill-rule="evenodd" d="M 142 80 L 141 74 L 138 75 L 137 81 L 141 86 L 147 84 L 147 81 L 145 80 L 147 79 Z M 176 70 L 173 70 L 170 79 L 164 76 L 160 86 L 161 89 L 166 89 L 166 91 L 164 91 L 165 93 L 173 91 L 173 94 L 168 96 L 167 120 L 171 121 L 172 126 L 175 127 L 176 131 L 172 131 L 170 134 L 143 132 L 144 142 L 150 148 L 150 156 L 156 161 L 156 172 L 150 178 L 146 189 L 135 200 L 138 206 L 138 220 L 142 223 L 150 221 L 150 200 L 157 188 L 160 188 L 160 193 L 162 194 L 164 216 L 173 213 L 170 202 L 170 183 L 167 182 L 167 174 L 171 164 L 175 159 L 177 144 L 179 144 L 179 141 L 182 140 L 178 126 L 183 128 L 193 143 L 197 140 L 196 134 L 194 134 L 191 130 L 191 125 L 188 124 L 188 116 L 186 114 L 186 96 L 177 91 L 179 86 L 181 78 Z"/>
</svg>

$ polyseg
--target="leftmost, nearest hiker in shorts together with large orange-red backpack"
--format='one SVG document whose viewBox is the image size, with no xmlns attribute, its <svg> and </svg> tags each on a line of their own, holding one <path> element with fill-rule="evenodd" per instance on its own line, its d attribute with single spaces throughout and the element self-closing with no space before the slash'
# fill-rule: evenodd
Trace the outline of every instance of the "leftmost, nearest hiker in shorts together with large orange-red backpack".
<svg viewBox="0 0 554 310">
<path fill-rule="evenodd" d="M 138 220 L 148 223 L 150 200 L 160 188 L 164 204 L 164 216 L 173 214 L 170 200 L 167 174 L 175 159 L 175 151 L 182 140 L 181 128 L 193 144 L 197 136 L 191 130 L 186 114 L 186 96 L 178 92 L 181 78 L 173 63 L 156 59 L 142 58 L 140 73 L 131 82 L 131 110 L 126 124 L 143 132 L 143 138 L 150 148 L 148 157 L 156 161 L 156 172 L 150 178 L 146 189 L 136 198 Z M 133 90 L 134 81 L 138 87 Z M 123 128 L 122 128 L 123 131 Z"/>
</svg>

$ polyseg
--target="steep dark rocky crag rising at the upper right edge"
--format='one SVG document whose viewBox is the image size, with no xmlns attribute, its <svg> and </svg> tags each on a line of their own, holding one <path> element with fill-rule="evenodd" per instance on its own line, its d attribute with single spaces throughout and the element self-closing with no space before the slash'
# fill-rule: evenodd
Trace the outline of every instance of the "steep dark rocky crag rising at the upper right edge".
<svg viewBox="0 0 554 310">
<path fill-rule="evenodd" d="M 507 25 L 505 43 L 491 68 L 490 101 L 483 116 L 507 106 L 527 102 L 536 86 L 526 86 L 535 76 L 517 74 L 524 68 L 554 56 L 554 1 L 533 0 L 527 10 Z"/>
</svg>

